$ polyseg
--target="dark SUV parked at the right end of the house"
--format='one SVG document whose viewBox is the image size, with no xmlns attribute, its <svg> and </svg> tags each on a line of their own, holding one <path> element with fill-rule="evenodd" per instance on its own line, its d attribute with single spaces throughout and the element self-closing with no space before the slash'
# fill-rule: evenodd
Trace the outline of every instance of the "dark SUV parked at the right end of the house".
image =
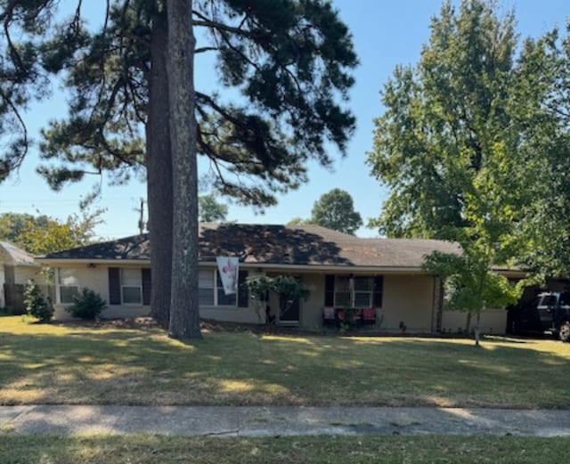
<svg viewBox="0 0 570 464">
<path fill-rule="evenodd" d="M 544 292 L 529 305 L 511 308 L 509 330 L 513 334 L 551 333 L 570 342 L 570 292 Z"/>
</svg>

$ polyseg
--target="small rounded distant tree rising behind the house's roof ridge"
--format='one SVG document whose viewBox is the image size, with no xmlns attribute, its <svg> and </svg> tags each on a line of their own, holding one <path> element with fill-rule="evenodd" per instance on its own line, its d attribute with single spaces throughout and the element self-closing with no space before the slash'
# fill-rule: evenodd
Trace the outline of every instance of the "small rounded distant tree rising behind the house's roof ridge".
<svg viewBox="0 0 570 464">
<path fill-rule="evenodd" d="M 314 202 L 308 223 L 354 235 L 362 225 L 362 217 L 354 211 L 353 198 L 347 191 L 333 189 Z"/>
</svg>

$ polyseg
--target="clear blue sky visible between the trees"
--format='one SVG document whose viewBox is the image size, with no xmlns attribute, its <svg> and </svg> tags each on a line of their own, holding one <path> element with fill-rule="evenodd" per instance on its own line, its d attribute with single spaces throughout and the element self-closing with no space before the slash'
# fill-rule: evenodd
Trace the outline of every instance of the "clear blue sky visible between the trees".
<svg viewBox="0 0 570 464">
<path fill-rule="evenodd" d="M 69 4 L 62 0 L 61 4 Z M 96 8 L 104 2 L 88 3 Z M 297 191 L 279 197 L 279 204 L 267 208 L 264 215 L 252 208 L 229 205 L 228 219 L 240 223 L 285 224 L 293 217 L 311 215 L 314 201 L 333 188 L 348 191 L 354 198 L 354 207 L 365 222 L 378 216 L 387 191 L 370 174 L 366 153 L 371 151 L 373 119 L 382 114 L 379 91 L 397 64 L 414 64 L 419 59 L 421 45 L 428 41 L 429 20 L 440 9 L 439 0 L 334 0 L 340 17 L 354 36 L 354 46 L 361 65 L 355 70 L 356 85 L 351 92 L 350 107 L 357 118 L 357 128 L 348 146 L 345 159 L 337 157 L 332 171 L 309 165 L 309 183 Z M 514 8 L 521 37 L 538 37 L 554 26 L 563 28 L 570 18 L 568 0 L 510 0 L 501 4 L 501 10 Z M 96 12 L 93 12 L 94 15 Z M 216 76 L 205 66 L 197 66 L 197 85 L 216 82 Z M 35 105 L 27 115 L 30 134 L 50 118 L 63 117 L 66 105 L 62 94 L 54 88 L 53 99 Z M 333 151 L 334 153 L 334 151 Z M 37 151 L 32 149 L 20 172 L 0 183 L 0 213 L 31 213 L 36 211 L 65 219 L 77 213 L 78 199 L 91 190 L 98 178 L 65 187 L 53 192 L 35 173 Z M 138 207 L 146 196 L 146 187 L 135 181 L 126 186 L 109 186 L 102 180 L 102 198 L 97 206 L 106 208 L 105 224 L 97 228 L 104 238 L 117 238 L 137 233 Z M 378 232 L 362 228 L 362 237 L 377 236 Z"/>
</svg>

